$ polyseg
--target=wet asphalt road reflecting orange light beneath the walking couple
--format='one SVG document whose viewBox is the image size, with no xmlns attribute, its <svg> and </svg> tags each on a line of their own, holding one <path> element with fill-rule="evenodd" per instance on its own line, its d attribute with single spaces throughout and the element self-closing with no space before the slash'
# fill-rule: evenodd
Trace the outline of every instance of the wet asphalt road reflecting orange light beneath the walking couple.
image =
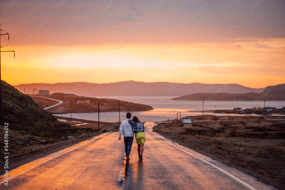
<svg viewBox="0 0 285 190">
<path fill-rule="evenodd" d="M 105 133 L 9 171 L 0 189 L 274 189 L 246 173 L 146 132 L 128 162 L 118 133 Z"/>
</svg>

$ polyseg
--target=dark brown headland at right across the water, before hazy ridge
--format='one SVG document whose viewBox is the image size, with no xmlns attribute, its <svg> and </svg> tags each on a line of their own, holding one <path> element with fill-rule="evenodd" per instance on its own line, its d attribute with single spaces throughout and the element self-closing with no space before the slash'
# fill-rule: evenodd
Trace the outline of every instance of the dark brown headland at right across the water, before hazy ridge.
<svg viewBox="0 0 285 190">
<path fill-rule="evenodd" d="M 261 93 L 195 93 L 172 100 L 212 100 L 212 101 L 285 101 L 285 84 L 266 87 Z"/>
</svg>

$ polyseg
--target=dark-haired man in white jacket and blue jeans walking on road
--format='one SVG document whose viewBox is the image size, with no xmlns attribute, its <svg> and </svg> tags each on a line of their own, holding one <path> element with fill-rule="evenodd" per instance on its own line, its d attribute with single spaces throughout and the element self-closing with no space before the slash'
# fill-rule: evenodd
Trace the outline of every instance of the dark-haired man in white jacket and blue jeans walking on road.
<svg viewBox="0 0 285 190">
<path fill-rule="evenodd" d="M 133 140 L 134 140 L 134 130 L 131 124 L 129 123 L 131 116 L 132 114 L 128 112 L 126 115 L 127 119 L 121 122 L 120 131 L 119 131 L 119 140 L 121 140 L 122 133 L 124 136 L 126 160 L 130 160 L 129 155 L 130 155 Z"/>
</svg>

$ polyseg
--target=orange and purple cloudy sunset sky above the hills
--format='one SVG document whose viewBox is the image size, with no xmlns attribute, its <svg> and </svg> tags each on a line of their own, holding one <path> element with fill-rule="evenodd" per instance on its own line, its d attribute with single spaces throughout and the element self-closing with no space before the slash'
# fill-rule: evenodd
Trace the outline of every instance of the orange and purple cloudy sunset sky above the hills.
<svg viewBox="0 0 285 190">
<path fill-rule="evenodd" d="M 285 83 L 285 1 L 2 0 L 1 79 Z M 5 49 L 7 48 L 7 49 Z M 188 74 L 186 74 L 188 73 Z"/>
</svg>

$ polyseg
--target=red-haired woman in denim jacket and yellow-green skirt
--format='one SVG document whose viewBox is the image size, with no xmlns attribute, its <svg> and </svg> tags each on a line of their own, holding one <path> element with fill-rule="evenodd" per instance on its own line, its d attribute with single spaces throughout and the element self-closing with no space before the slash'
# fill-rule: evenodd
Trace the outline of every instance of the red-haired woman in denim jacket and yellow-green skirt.
<svg viewBox="0 0 285 190">
<path fill-rule="evenodd" d="M 145 141 L 143 123 L 136 116 L 133 117 L 133 120 L 130 119 L 129 123 L 131 124 L 135 132 L 135 138 L 138 144 L 139 159 L 143 160 L 143 145 Z"/>
</svg>

